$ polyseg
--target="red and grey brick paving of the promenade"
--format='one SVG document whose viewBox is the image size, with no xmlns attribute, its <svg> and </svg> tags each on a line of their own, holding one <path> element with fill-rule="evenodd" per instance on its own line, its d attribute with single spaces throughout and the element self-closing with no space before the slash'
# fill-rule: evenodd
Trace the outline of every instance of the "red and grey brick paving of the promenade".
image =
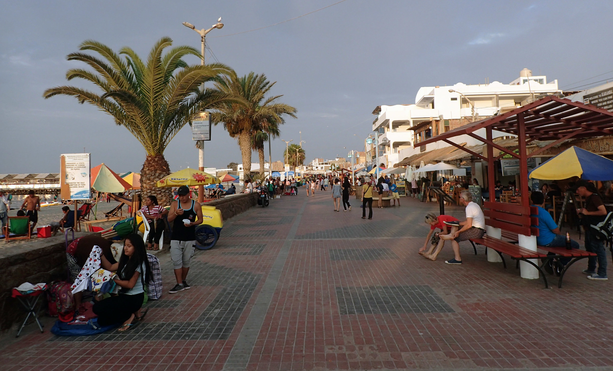
<svg viewBox="0 0 613 371">
<path fill-rule="evenodd" d="M 300 190 L 227 221 L 192 288 L 148 303 L 133 331 L 32 332 L 0 350 L 2 370 L 613 370 L 613 283 L 585 279 L 585 262 L 543 289 L 466 242 L 462 266 L 444 264 L 451 247 L 428 261 L 435 203 L 362 220 L 357 200 L 333 212 L 330 191 Z"/>
</svg>

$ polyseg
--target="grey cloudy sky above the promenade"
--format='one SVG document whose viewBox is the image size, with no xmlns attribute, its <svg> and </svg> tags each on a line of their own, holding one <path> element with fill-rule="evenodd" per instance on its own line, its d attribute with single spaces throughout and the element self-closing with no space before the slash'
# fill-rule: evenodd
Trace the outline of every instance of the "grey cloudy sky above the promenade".
<svg viewBox="0 0 613 371">
<path fill-rule="evenodd" d="M 363 150 L 372 110 L 412 104 L 420 86 L 509 83 L 527 67 L 563 88 L 595 82 L 611 71 L 612 1 L 364 1 L 347 0 L 281 25 L 228 37 L 297 17 L 335 2 L 314 1 L 4 1 L 0 12 L 0 173 L 58 172 L 61 153 L 92 153 L 116 172 L 140 171 L 145 151 L 129 132 L 91 105 L 42 92 L 66 85 L 65 56 L 85 39 L 146 58 L 153 43 L 199 48 L 197 28 L 223 17 L 208 45 L 238 74 L 264 73 L 274 94 L 299 110 L 280 139 L 299 142 L 307 161 Z M 211 59 L 207 53 L 207 60 Z M 189 63 L 199 63 L 197 58 Z M 574 84 L 573 84 L 574 83 Z M 571 85 L 569 85 L 571 84 Z M 73 80 L 70 85 L 88 86 Z M 90 87 L 91 88 L 91 87 Z M 354 135 L 356 134 L 356 135 Z M 273 141 L 273 161 L 285 143 Z M 347 147 L 347 149 L 343 149 Z M 171 169 L 197 167 L 186 126 L 165 156 Z M 221 126 L 205 144 L 205 165 L 241 162 Z M 268 152 L 267 152 L 268 159 Z M 257 162 L 257 156 L 252 162 Z"/>
</svg>

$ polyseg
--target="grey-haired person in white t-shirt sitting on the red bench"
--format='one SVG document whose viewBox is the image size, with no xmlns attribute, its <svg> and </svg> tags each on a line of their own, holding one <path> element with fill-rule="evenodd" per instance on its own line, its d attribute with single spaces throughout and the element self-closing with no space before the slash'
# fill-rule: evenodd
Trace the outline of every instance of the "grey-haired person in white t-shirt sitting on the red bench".
<svg viewBox="0 0 613 371">
<path fill-rule="evenodd" d="M 452 240 L 451 247 L 454 249 L 455 258 L 445 261 L 447 264 L 462 264 L 458 242 L 480 239 L 485 233 L 485 216 L 481 207 L 473 202 L 473 195 L 469 191 L 462 191 L 460 201 L 466 206 L 466 221 L 460 221 L 462 229 L 450 234 L 438 235 L 441 240 Z"/>
</svg>

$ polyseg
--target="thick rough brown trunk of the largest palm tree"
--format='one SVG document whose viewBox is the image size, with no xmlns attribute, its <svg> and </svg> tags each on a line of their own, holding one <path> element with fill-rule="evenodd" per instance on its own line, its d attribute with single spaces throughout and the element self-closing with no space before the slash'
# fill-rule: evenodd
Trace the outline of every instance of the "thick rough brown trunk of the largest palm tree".
<svg viewBox="0 0 613 371">
<path fill-rule="evenodd" d="M 143 168 L 140 170 L 140 194 L 142 198 L 150 194 L 158 198 L 158 203 L 161 206 L 170 205 L 172 202 L 172 188 L 159 188 L 156 182 L 161 178 L 170 174 L 170 166 L 168 165 L 164 155 L 147 155 Z"/>
</svg>

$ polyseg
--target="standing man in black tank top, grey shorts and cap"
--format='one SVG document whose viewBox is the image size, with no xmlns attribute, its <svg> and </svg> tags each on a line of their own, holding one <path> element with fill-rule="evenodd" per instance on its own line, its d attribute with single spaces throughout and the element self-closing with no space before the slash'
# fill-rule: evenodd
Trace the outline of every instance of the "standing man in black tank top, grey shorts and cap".
<svg viewBox="0 0 613 371">
<path fill-rule="evenodd" d="M 196 226 L 202 224 L 202 207 L 189 198 L 189 188 L 180 186 L 177 193 L 178 201 L 170 204 L 168 212 L 168 221 L 172 223 L 170 259 L 177 278 L 177 285 L 169 291 L 171 294 L 190 288 L 185 280 L 196 250 Z"/>
</svg>

